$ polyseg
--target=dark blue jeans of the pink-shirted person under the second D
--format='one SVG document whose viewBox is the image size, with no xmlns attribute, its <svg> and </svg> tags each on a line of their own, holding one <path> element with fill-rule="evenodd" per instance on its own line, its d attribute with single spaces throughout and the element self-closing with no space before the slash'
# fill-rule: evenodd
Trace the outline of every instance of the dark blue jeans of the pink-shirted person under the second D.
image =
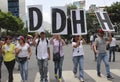
<svg viewBox="0 0 120 82">
<path fill-rule="evenodd" d="M 64 56 L 60 57 L 60 61 L 54 61 L 54 72 L 57 74 L 59 70 L 59 78 L 62 77 L 62 66 L 63 66 Z"/>
</svg>

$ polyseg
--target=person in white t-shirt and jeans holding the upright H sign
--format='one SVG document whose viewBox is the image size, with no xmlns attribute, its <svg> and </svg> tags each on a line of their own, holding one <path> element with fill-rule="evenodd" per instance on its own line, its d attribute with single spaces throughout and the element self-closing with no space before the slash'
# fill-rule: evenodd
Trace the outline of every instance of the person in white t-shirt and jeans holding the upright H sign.
<svg viewBox="0 0 120 82">
<path fill-rule="evenodd" d="M 83 44 L 85 44 L 85 40 L 82 36 L 75 35 L 73 38 L 72 46 L 73 46 L 73 73 L 75 78 L 77 77 L 77 67 L 79 65 L 79 79 L 81 82 L 84 82 L 84 50 Z"/>
</svg>

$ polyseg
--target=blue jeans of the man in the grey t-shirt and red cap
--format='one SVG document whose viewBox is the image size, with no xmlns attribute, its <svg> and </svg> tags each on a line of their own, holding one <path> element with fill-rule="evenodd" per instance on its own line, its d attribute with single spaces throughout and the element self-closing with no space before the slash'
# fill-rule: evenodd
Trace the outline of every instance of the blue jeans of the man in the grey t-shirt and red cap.
<svg viewBox="0 0 120 82">
<path fill-rule="evenodd" d="M 98 54 L 98 58 L 97 58 L 97 73 L 101 74 L 101 72 L 100 72 L 100 64 L 101 64 L 102 60 L 103 60 L 103 62 L 105 64 L 107 76 L 109 76 L 110 75 L 110 66 L 109 66 L 109 62 L 108 62 L 108 55 L 107 55 L 107 53 L 102 53 L 102 54 L 100 53 L 100 54 Z"/>
</svg>

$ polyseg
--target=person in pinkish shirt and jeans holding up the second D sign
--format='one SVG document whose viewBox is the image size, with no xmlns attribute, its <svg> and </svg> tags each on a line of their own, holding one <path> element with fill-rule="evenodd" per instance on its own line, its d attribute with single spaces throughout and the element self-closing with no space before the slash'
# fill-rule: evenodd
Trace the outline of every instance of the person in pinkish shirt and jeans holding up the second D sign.
<svg viewBox="0 0 120 82">
<path fill-rule="evenodd" d="M 57 55 L 56 53 L 60 54 L 60 59 L 53 61 L 55 78 L 58 78 L 57 71 L 59 71 L 59 82 L 62 82 L 62 65 L 64 60 L 63 46 L 65 45 L 65 42 L 63 39 L 61 39 L 60 35 L 54 35 L 50 39 L 50 43 L 53 45 L 53 58 L 55 57 L 55 55 Z"/>
</svg>

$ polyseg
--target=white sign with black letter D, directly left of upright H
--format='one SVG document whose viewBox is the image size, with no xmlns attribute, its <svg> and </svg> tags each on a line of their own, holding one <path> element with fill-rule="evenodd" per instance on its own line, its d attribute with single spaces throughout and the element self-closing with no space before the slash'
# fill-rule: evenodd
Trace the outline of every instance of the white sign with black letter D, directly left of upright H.
<svg viewBox="0 0 120 82">
<path fill-rule="evenodd" d="M 65 6 L 51 8 L 52 34 L 67 34 L 67 8 Z"/>
</svg>

